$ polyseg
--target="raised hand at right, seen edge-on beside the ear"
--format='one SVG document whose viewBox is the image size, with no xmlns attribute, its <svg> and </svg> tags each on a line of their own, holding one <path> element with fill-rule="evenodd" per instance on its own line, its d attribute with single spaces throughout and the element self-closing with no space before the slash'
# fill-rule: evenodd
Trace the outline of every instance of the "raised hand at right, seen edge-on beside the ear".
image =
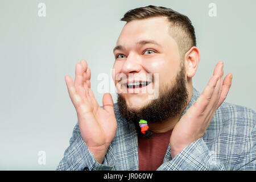
<svg viewBox="0 0 256 182">
<path fill-rule="evenodd" d="M 223 80 L 223 64 L 222 61 L 217 63 L 203 93 L 175 125 L 170 138 L 172 158 L 190 143 L 203 137 L 214 112 L 224 102 L 231 86 L 232 74 L 229 73 Z"/>
</svg>

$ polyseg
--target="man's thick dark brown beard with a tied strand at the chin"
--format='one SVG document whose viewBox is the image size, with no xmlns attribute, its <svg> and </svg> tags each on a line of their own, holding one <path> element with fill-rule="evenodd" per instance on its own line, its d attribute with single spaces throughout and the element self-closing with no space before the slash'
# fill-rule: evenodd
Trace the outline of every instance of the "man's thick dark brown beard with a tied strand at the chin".
<svg viewBox="0 0 256 182">
<path fill-rule="evenodd" d="M 119 112 L 128 122 L 135 123 L 139 135 L 142 135 L 141 128 L 139 127 L 140 119 L 146 120 L 147 123 L 161 123 L 171 117 L 176 117 L 188 105 L 184 64 L 180 68 L 174 84 L 170 83 L 163 86 L 164 88 L 161 93 L 159 90 L 159 97 L 151 100 L 140 109 L 130 109 L 126 104 L 125 98 L 118 94 Z M 144 134 L 144 137 L 147 138 L 152 136 L 153 133 L 150 130 Z"/>
</svg>

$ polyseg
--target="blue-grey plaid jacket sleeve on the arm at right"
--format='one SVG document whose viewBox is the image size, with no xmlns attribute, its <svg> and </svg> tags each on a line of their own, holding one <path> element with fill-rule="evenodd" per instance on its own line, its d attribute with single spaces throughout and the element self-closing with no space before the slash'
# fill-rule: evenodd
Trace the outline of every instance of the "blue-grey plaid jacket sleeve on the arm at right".
<svg viewBox="0 0 256 182">
<path fill-rule="evenodd" d="M 234 107 L 232 122 L 225 122 L 229 140 L 218 151 L 209 150 L 203 138 L 185 147 L 174 159 L 166 160 L 158 170 L 256 170 L 255 111 Z M 236 125 L 234 125 L 236 123 Z M 232 135 L 230 134 L 232 129 Z M 234 131 L 235 130 L 235 131 Z M 228 145 L 228 146 L 226 146 Z M 224 146 L 224 147 L 221 147 Z M 218 153 L 217 153 L 218 152 Z M 222 152 L 221 154 L 219 154 Z M 222 160 L 223 159 L 223 160 Z M 225 162 L 224 162 L 225 161 Z"/>
</svg>

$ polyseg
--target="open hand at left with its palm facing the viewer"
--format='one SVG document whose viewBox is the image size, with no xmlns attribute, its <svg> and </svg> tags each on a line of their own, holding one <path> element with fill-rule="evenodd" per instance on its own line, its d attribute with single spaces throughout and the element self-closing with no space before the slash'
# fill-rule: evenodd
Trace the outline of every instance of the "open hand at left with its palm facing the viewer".
<svg viewBox="0 0 256 182">
<path fill-rule="evenodd" d="M 117 131 L 112 96 L 104 94 L 102 104 L 98 105 L 90 89 L 90 69 L 85 60 L 76 64 L 75 83 L 65 76 L 68 93 L 76 108 L 82 139 L 98 163 L 102 163 Z"/>
</svg>

